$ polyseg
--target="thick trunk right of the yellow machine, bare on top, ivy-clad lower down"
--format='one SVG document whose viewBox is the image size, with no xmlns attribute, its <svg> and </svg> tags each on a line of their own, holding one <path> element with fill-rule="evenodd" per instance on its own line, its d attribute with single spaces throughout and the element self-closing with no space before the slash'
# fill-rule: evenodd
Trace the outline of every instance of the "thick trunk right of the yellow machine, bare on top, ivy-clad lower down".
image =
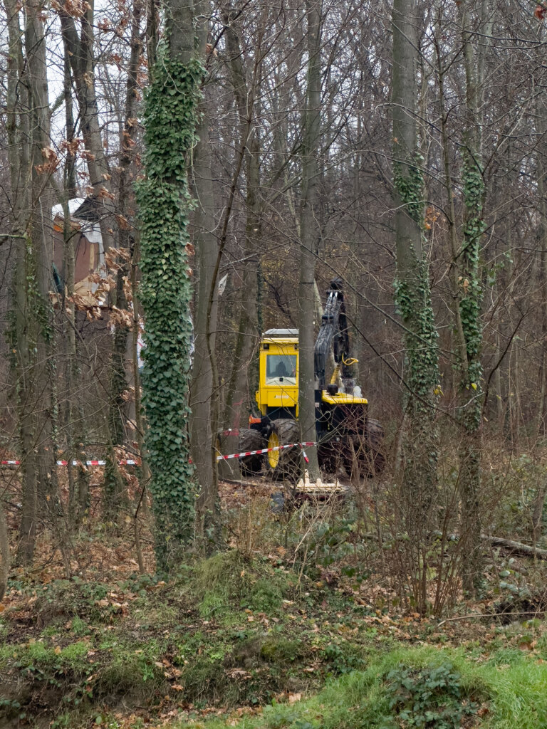
<svg viewBox="0 0 547 729">
<path fill-rule="evenodd" d="M 409 531 L 431 526 L 437 486 L 437 331 L 424 257 L 422 157 L 417 149 L 416 63 L 419 3 L 393 6 L 393 182 L 397 279 L 395 300 L 405 327 L 406 432 L 403 437 L 404 495 Z M 423 606 L 422 606 L 423 607 Z"/>
</svg>

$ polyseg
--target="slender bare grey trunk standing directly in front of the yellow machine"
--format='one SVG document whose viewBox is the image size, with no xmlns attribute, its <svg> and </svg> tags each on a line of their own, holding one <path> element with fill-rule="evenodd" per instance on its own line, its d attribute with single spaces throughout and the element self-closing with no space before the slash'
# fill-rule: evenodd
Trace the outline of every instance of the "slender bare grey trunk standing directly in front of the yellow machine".
<svg viewBox="0 0 547 729">
<path fill-rule="evenodd" d="M 302 206 L 300 209 L 300 285 L 298 288 L 298 418 L 303 441 L 315 441 L 314 284 L 317 255 L 317 180 L 321 133 L 321 3 L 306 0 L 308 85 L 302 130 Z M 311 480 L 319 477 L 317 448 L 308 448 Z"/>
</svg>

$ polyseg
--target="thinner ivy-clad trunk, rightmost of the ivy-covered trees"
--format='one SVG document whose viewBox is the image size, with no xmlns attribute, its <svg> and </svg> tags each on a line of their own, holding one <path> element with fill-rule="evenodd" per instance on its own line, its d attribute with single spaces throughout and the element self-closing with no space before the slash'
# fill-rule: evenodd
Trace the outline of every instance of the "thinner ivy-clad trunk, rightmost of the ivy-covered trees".
<svg viewBox="0 0 547 729">
<path fill-rule="evenodd" d="M 466 109 L 462 147 L 463 200 L 465 204 L 462 247 L 454 261 L 458 270 L 459 318 L 462 358 L 459 362 L 459 418 L 462 440 L 459 445 L 459 487 L 462 495 L 462 579 L 473 592 L 481 582 L 481 387 L 482 330 L 481 278 L 479 256 L 484 233 L 484 178 L 481 166 L 481 117 L 478 58 L 473 52 L 469 28 L 468 0 L 459 4 L 462 20 L 465 65 Z"/>
</svg>

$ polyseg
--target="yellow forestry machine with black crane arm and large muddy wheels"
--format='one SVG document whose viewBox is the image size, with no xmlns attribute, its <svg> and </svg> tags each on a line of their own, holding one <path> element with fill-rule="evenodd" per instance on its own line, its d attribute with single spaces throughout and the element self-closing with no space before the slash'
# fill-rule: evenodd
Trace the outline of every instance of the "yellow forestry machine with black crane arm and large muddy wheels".
<svg viewBox="0 0 547 729">
<path fill-rule="evenodd" d="M 325 370 L 332 350 L 334 371 L 327 384 Z M 368 417 L 368 401 L 355 384 L 357 364 L 349 351 L 342 281 L 333 279 L 315 343 L 315 412 L 317 453 L 324 472 L 343 467 L 348 475 L 379 475 L 384 470 L 384 431 Z M 240 451 L 257 451 L 300 442 L 298 424 L 298 330 L 271 329 L 260 340 L 260 380 L 256 393 L 259 416 L 239 433 Z M 265 455 L 244 456 L 242 471 L 260 472 L 265 464 L 274 478 L 296 480 L 303 470 L 302 449 L 287 448 Z"/>
</svg>

